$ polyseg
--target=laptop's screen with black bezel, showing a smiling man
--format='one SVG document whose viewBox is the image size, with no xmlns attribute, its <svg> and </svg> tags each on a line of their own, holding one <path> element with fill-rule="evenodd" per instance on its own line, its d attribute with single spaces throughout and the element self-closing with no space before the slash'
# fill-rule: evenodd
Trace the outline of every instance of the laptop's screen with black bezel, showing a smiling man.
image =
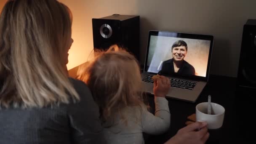
<svg viewBox="0 0 256 144">
<path fill-rule="evenodd" d="M 212 35 L 149 31 L 145 71 L 208 78 Z"/>
</svg>

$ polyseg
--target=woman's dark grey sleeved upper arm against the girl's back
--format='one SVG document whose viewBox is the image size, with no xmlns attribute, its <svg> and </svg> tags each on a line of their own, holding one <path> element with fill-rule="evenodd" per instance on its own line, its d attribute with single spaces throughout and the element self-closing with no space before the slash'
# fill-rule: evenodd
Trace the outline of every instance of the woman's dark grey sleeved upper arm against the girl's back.
<svg viewBox="0 0 256 144">
<path fill-rule="evenodd" d="M 93 101 L 88 87 L 82 81 L 72 80 L 80 101 L 68 108 L 72 144 L 105 144 L 99 120 L 99 107 Z"/>
</svg>

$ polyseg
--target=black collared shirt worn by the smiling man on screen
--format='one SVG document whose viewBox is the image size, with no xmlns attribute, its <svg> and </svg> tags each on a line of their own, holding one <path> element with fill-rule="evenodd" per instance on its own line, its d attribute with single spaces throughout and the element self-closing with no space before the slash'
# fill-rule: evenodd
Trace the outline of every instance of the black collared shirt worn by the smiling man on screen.
<svg viewBox="0 0 256 144">
<path fill-rule="evenodd" d="M 173 59 L 169 59 L 167 61 L 164 61 L 162 64 L 162 69 L 159 71 L 159 74 L 161 75 L 184 75 L 184 76 L 190 76 L 195 75 L 195 68 L 189 64 L 187 61 L 183 61 L 183 64 L 181 68 L 178 70 L 177 73 L 174 72 L 174 66 L 173 66 Z"/>
</svg>

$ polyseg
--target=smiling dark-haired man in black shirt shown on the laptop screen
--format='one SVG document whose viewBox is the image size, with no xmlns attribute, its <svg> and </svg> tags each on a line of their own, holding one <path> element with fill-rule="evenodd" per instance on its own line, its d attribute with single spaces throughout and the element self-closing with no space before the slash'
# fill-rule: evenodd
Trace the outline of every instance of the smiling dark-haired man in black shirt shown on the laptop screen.
<svg viewBox="0 0 256 144">
<path fill-rule="evenodd" d="M 195 68 L 184 60 L 187 55 L 187 43 L 183 40 L 178 40 L 173 43 L 171 47 L 172 59 L 164 61 L 160 74 L 172 75 L 174 73 L 179 75 L 195 75 Z"/>
</svg>

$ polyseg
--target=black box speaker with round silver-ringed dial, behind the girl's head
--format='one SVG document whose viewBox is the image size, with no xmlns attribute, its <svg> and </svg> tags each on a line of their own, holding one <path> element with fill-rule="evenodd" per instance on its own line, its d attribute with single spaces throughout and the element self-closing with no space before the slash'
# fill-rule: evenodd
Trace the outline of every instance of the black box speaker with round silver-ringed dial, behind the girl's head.
<svg viewBox="0 0 256 144">
<path fill-rule="evenodd" d="M 94 51 L 117 44 L 139 60 L 139 16 L 114 14 L 92 22 Z"/>
</svg>

